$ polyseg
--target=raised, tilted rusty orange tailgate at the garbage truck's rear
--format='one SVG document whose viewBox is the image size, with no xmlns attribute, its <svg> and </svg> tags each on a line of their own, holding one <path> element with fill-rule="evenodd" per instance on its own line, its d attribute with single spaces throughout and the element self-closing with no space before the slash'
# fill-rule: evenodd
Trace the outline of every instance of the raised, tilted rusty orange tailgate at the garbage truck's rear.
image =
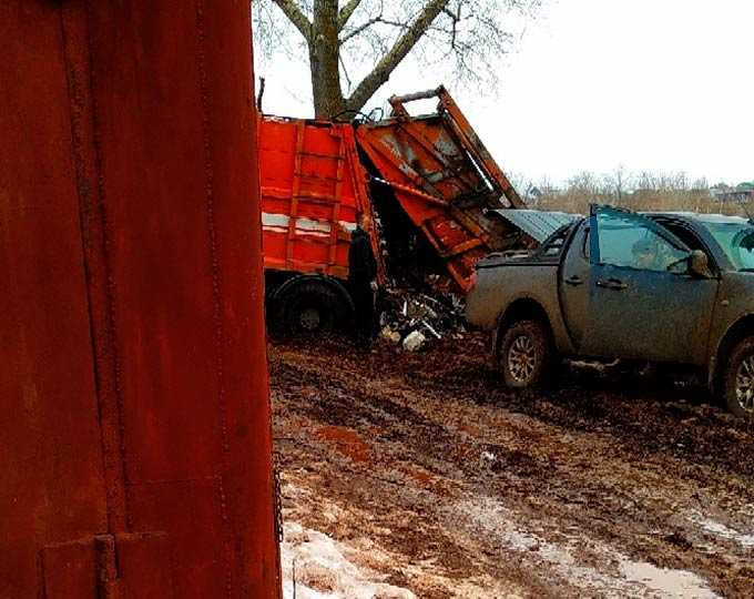
<svg viewBox="0 0 754 599">
<path fill-rule="evenodd" d="M 432 98 L 438 100 L 434 113 L 408 113 L 406 104 Z M 366 122 L 356 131 L 374 177 L 373 201 L 380 216 L 394 214 L 390 204 L 397 202 L 448 274 L 467 291 L 475 264 L 514 243 L 516 230 L 489 211 L 522 207 L 523 201 L 445 88 L 394 97 L 390 104 L 388 119 Z M 386 237 L 400 253 L 395 246 L 407 232 L 396 234 L 390 224 L 386 222 Z"/>
</svg>

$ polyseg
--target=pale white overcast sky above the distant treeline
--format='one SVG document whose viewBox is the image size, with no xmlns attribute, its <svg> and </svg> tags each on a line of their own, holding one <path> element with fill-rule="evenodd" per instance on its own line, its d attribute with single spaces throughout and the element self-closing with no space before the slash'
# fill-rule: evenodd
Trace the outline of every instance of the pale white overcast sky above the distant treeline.
<svg viewBox="0 0 754 599">
<path fill-rule="evenodd" d="M 517 177 L 622 164 L 752 181 L 753 28 L 754 0 L 549 0 L 500 62 L 497 89 L 451 92 Z M 265 111 L 312 115 L 303 60 L 275 57 L 257 74 Z M 407 63 L 368 105 L 436 77 Z"/>
</svg>

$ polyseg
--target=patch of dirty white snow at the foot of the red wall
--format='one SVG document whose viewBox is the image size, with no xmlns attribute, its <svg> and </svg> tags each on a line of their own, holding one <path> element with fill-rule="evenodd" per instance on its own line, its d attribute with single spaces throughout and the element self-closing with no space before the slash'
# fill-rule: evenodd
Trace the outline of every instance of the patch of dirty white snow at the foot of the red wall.
<svg viewBox="0 0 754 599">
<path fill-rule="evenodd" d="M 294 587 L 296 599 L 416 599 L 408 589 L 379 582 L 379 575 L 358 568 L 332 537 L 293 522 L 285 524 L 284 532 L 284 599 L 294 598 Z"/>
</svg>

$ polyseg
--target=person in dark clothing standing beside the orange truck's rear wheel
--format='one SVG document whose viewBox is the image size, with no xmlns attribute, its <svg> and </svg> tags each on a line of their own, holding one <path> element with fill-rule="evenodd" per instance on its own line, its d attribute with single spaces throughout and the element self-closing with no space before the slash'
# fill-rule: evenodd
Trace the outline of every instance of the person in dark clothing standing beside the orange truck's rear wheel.
<svg viewBox="0 0 754 599">
<path fill-rule="evenodd" d="M 375 328 L 377 261 L 371 251 L 370 231 L 371 219 L 368 214 L 359 214 L 348 248 L 348 286 L 356 308 L 354 339 L 364 347 L 370 345 Z"/>
</svg>

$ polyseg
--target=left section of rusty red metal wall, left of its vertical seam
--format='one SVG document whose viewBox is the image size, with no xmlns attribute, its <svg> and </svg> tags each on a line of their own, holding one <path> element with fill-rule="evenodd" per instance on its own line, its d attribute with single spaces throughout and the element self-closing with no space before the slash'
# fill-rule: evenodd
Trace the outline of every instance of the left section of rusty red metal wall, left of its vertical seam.
<svg viewBox="0 0 754 599">
<path fill-rule="evenodd" d="M 0 597 L 108 526 L 60 18 L 0 3 Z M 81 589 L 82 551 L 47 579 Z"/>
</svg>

